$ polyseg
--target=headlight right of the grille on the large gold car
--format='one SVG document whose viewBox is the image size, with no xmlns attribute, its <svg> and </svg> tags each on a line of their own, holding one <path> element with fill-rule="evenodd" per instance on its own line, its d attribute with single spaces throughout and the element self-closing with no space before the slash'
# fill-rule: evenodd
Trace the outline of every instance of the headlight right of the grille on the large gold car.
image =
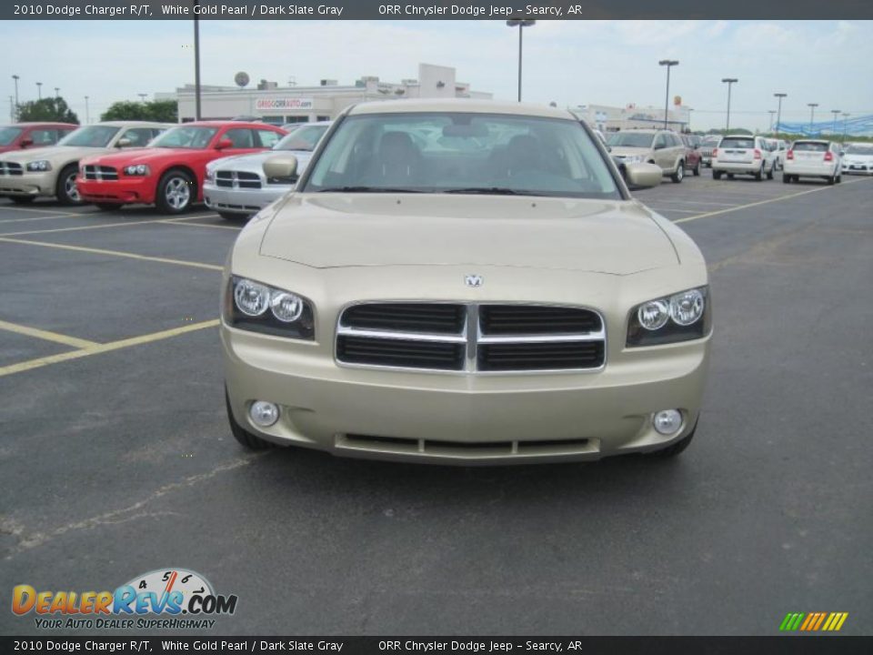
<svg viewBox="0 0 873 655">
<path fill-rule="evenodd" d="M 709 287 L 637 305 L 627 321 L 627 346 L 658 346 L 706 337 L 712 323 L 710 305 Z"/>
</svg>

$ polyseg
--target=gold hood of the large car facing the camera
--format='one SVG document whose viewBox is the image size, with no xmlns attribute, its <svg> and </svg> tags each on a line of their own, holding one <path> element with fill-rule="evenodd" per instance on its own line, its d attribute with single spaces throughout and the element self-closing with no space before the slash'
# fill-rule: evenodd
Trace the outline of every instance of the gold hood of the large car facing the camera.
<svg viewBox="0 0 873 655">
<path fill-rule="evenodd" d="M 480 265 L 629 275 L 675 266 L 635 201 L 430 194 L 292 194 L 260 254 L 311 267 Z"/>
</svg>

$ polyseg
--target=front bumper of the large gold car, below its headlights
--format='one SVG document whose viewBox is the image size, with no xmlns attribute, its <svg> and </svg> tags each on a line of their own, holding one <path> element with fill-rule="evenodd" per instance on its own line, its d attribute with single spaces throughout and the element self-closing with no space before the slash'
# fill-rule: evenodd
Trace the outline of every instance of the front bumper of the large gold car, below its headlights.
<svg viewBox="0 0 873 655">
<path fill-rule="evenodd" d="M 577 287 L 594 278 L 580 275 Z M 614 292 L 605 288 L 597 296 L 624 303 Z M 657 297 L 651 291 L 642 294 Z M 351 299 L 339 298 L 337 304 Z M 316 307 L 324 306 L 316 299 Z M 597 372 L 484 375 L 352 368 L 334 358 L 336 310 L 326 309 L 316 321 L 314 342 L 222 322 L 229 405 L 246 431 L 349 457 L 511 464 L 655 450 L 684 438 L 697 423 L 710 337 L 625 348 L 626 312 L 606 310 L 607 363 Z M 279 406 L 275 425 L 258 428 L 250 421 L 248 409 L 255 400 Z M 659 435 L 651 422 L 655 412 L 667 408 L 683 415 L 682 428 L 671 437 Z"/>
</svg>

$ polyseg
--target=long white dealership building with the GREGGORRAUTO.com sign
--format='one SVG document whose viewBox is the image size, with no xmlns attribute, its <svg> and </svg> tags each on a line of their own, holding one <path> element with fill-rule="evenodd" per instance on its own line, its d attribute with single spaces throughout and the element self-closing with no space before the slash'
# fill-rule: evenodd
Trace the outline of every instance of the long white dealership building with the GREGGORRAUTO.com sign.
<svg viewBox="0 0 873 655">
<path fill-rule="evenodd" d="M 245 77 L 241 81 L 246 81 Z M 368 100 L 396 98 L 485 98 L 490 93 L 474 91 L 465 82 L 458 82 L 451 66 L 419 64 L 415 79 L 383 82 L 375 76 L 360 77 L 353 85 L 340 85 L 336 80 L 323 79 L 318 86 L 278 86 L 262 80 L 256 88 L 246 86 L 201 86 L 200 116 L 203 120 L 226 119 L 235 116 L 256 118 L 283 125 L 335 118 L 349 105 Z M 179 120 L 195 120 L 194 85 L 177 88 L 174 93 L 159 93 L 156 100 L 176 100 Z"/>
</svg>

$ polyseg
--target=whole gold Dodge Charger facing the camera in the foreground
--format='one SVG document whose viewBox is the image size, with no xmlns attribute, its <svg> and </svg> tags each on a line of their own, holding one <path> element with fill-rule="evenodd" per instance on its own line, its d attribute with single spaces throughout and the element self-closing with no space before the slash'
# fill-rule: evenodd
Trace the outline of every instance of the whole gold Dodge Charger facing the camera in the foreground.
<svg viewBox="0 0 873 655">
<path fill-rule="evenodd" d="M 586 126 L 477 100 L 353 106 L 226 263 L 249 448 L 434 463 L 676 454 L 707 375 L 707 267 Z M 295 174 L 276 155 L 266 176 Z M 628 184 L 661 170 L 628 164 Z"/>
</svg>

